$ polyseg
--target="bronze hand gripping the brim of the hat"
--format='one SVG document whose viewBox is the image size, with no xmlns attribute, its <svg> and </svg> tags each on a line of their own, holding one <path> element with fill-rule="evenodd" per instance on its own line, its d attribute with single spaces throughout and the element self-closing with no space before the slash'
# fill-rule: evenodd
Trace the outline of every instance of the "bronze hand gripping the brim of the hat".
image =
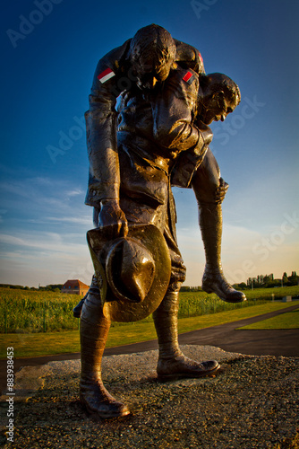
<svg viewBox="0 0 299 449">
<path fill-rule="evenodd" d="M 102 229 L 108 239 L 125 237 L 128 233 L 128 222 L 124 212 L 119 207 L 117 199 L 103 199 L 98 215 L 98 227 Z"/>
</svg>

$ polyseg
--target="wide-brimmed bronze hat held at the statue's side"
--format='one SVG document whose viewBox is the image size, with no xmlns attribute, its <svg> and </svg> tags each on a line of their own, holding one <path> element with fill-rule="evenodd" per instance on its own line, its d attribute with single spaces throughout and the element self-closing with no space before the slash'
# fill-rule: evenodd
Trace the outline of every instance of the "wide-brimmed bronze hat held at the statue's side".
<svg viewBox="0 0 299 449">
<path fill-rule="evenodd" d="M 139 321 L 153 313 L 167 292 L 171 269 L 158 228 L 131 225 L 126 237 L 113 242 L 94 229 L 88 232 L 88 242 L 107 319 Z"/>
</svg>

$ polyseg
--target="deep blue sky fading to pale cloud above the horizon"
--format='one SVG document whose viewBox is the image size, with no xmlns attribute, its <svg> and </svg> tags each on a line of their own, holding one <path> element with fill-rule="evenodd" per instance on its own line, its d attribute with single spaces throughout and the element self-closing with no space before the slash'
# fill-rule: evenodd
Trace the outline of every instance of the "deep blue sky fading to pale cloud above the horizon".
<svg viewBox="0 0 299 449">
<path fill-rule="evenodd" d="M 241 89 L 234 114 L 212 125 L 211 147 L 230 185 L 223 203 L 226 277 L 241 282 L 299 271 L 296 0 L 5 3 L 1 283 L 90 282 L 82 118 L 98 59 L 152 22 L 199 48 L 208 73 L 223 72 Z M 190 189 L 175 189 L 175 201 L 186 285 L 198 286 L 204 253 L 196 201 Z"/>
</svg>

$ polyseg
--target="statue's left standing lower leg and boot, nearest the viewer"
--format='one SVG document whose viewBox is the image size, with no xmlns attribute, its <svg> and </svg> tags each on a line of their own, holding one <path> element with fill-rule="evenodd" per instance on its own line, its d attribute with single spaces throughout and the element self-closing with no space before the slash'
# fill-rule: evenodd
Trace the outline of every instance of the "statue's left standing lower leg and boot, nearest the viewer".
<svg viewBox="0 0 299 449">
<path fill-rule="evenodd" d="M 87 295 L 81 313 L 81 381 L 80 400 L 86 409 L 100 418 L 117 418 L 130 413 L 116 401 L 102 383 L 101 361 L 110 328 L 102 313 L 99 291 Z"/>
</svg>

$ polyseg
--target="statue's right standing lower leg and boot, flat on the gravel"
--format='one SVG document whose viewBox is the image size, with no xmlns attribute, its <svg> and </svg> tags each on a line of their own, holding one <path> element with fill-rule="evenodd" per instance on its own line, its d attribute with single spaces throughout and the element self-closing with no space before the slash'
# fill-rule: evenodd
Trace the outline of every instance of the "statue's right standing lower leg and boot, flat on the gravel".
<svg viewBox="0 0 299 449">
<path fill-rule="evenodd" d="M 158 377 L 167 380 L 214 374 L 220 367 L 218 362 L 214 360 L 196 362 L 185 357 L 179 348 L 177 335 L 178 295 L 178 291 L 168 292 L 153 313 L 158 335 Z"/>
</svg>

